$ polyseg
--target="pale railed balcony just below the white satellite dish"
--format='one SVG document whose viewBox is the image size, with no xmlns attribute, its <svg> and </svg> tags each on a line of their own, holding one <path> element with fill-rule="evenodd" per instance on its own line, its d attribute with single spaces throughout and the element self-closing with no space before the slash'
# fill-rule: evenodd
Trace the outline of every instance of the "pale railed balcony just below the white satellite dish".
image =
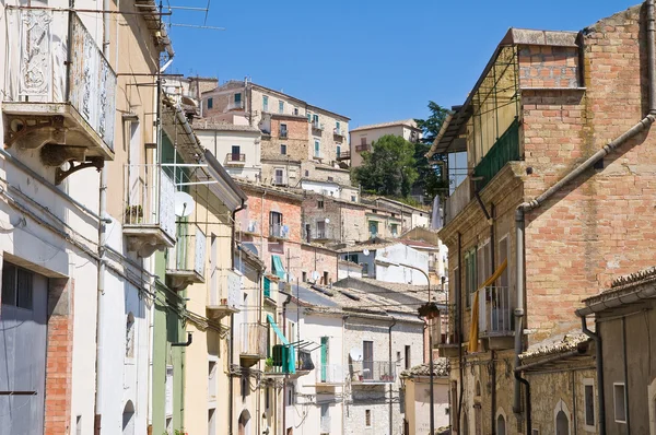
<svg viewBox="0 0 656 435">
<path fill-rule="evenodd" d="M 180 224 L 177 243 L 166 256 L 167 285 L 176 291 L 204 282 L 206 235 L 196 225 Z"/>
</svg>

